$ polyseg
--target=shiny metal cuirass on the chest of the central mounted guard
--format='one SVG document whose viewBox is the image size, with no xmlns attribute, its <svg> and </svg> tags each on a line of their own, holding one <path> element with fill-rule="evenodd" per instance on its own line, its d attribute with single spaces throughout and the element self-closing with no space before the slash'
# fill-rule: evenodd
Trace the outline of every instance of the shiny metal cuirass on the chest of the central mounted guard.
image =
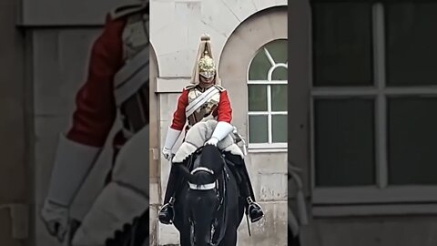
<svg viewBox="0 0 437 246">
<path fill-rule="evenodd" d="M 188 104 L 194 99 L 202 95 L 202 91 L 199 87 L 191 88 L 188 92 Z M 208 118 L 213 118 L 213 112 L 219 107 L 220 94 L 217 93 L 213 97 L 210 97 L 202 106 L 200 106 L 194 113 L 188 116 L 188 125 L 194 126 L 194 124 L 205 121 Z"/>
</svg>

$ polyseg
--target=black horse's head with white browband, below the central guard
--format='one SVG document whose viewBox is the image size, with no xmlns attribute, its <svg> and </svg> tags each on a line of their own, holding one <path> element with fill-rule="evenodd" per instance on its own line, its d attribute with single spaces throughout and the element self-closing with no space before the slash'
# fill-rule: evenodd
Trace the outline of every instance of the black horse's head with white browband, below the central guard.
<svg viewBox="0 0 437 246">
<path fill-rule="evenodd" d="M 224 168 L 220 150 L 212 145 L 192 155 L 192 170 L 186 172 L 189 190 L 186 204 L 195 245 L 213 245 L 214 219 L 219 207 L 216 181 Z"/>
</svg>

